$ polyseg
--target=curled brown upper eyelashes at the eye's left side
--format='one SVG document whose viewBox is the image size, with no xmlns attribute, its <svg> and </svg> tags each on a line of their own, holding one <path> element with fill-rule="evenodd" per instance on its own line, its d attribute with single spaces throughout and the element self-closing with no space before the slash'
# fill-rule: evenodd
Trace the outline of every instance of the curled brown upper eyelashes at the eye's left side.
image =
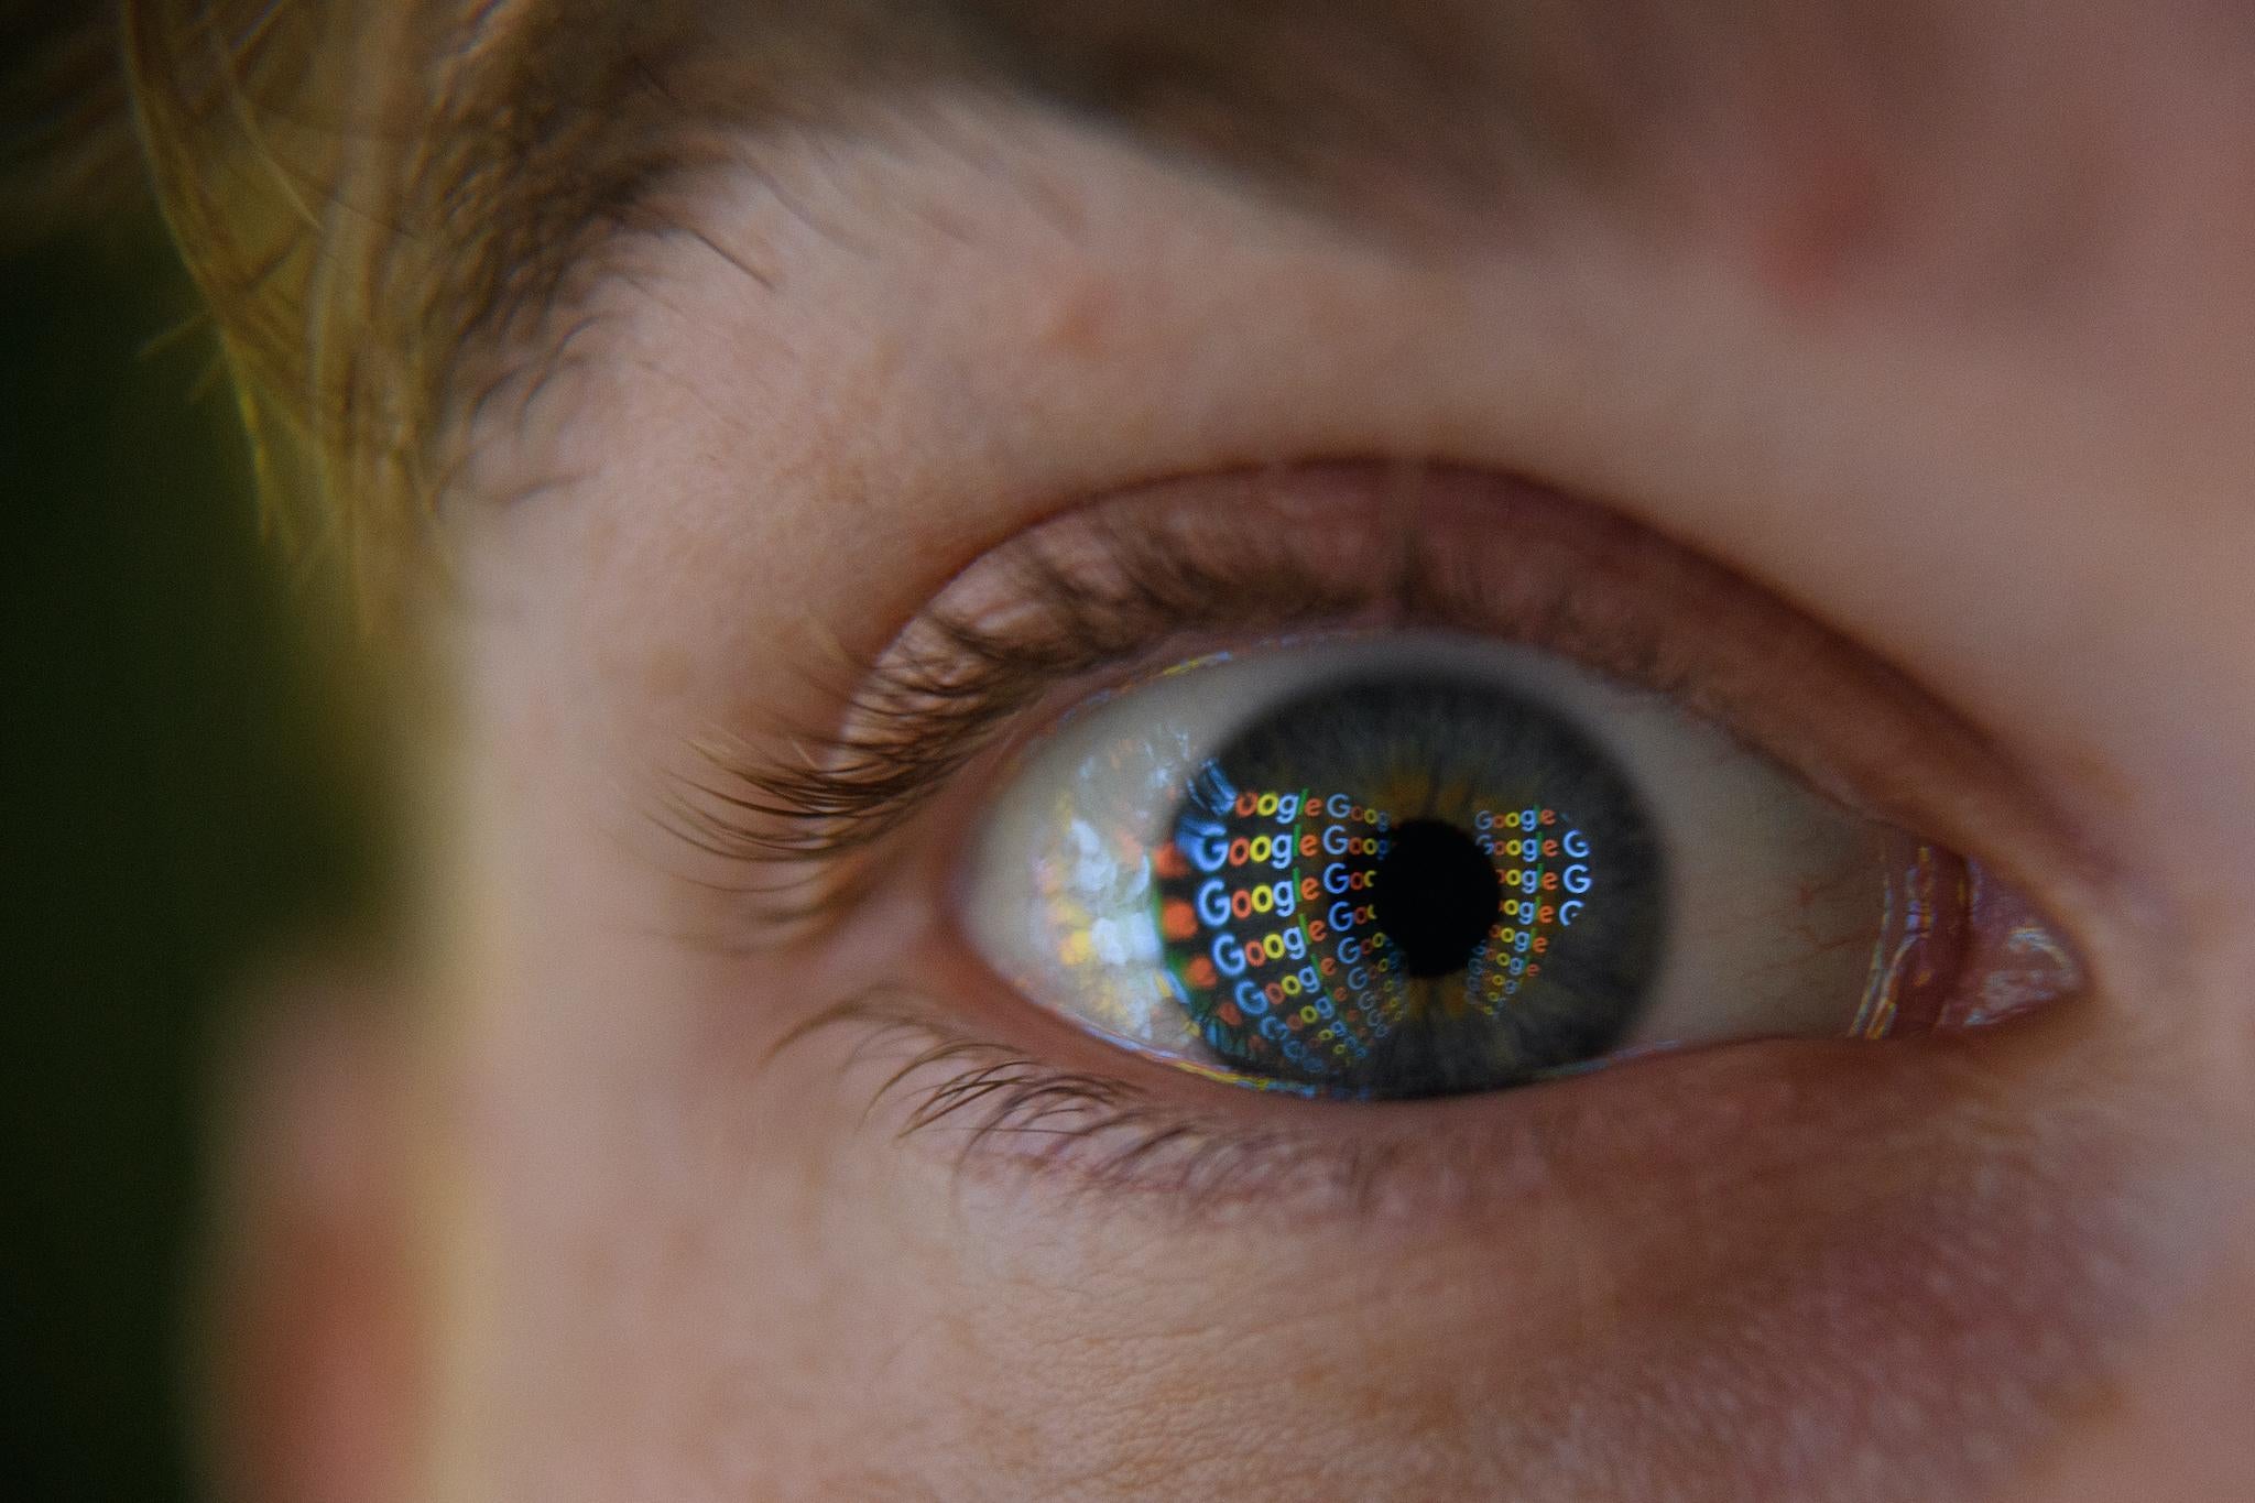
<svg viewBox="0 0 2255 1503">
<path fill-rule="evenodd" d="M 697 850 L 760 865 L 764 879 L 735 890 L 760 899 L 762 917 L 810 917 L 834 897 L 814 890 L 814 868 L 897 829 L 1055 685 L 1170 633 L 1279 629 L 1434 595 L 1430 570 L 1407 550 L 1400 568 L 1348 588 L 1283 552 L 1220 572 L 1164 536 L 1118 525 L 1091 534 L 1094 568 L 1040 545 L 1010 559 L 1001 624 L 947 613 L 911 622 L 841 696 L 841 730 L 792 735 L 785 757 L 737 741 L 699 746 L 699 773 L 667 791 L 665 827 Z"/>
</svg>

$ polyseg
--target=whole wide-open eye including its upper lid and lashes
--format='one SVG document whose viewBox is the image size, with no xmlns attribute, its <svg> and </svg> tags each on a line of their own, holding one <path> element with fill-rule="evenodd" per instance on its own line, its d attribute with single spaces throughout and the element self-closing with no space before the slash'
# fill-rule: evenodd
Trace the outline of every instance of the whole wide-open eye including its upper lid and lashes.
<svg viewBox="0 0 2255 1503">
<path fill-rule="evenodd" d="M 764 922 L 855 955 L 825 1021 L 931 1039 L 886 1079 L 911 1122 L 1033 1158 L 1150 1167 L 1328 1102 L 2081 987 L 2023 897 L 2043 811 L 1980 737 L 1759 586 L 1495 475 L 1069 509 L 792 748 L 681 813 Z M 1164 1077 L 1308 1100 L 1247 1122 Z"/>
</svg>

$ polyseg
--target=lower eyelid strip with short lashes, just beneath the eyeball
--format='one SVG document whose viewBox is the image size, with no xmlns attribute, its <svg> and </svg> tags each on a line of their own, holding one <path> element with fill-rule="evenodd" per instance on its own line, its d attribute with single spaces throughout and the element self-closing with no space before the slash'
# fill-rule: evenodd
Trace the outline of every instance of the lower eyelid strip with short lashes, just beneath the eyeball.
<svg viewBox="0 0 2255 1503">
<path fill-rule="evenodd" d="M 1624 1192 L 1608 1176 L 1712 1176 L 1745 1158 L 1745 1133 L 1781 1133 L 1763 1151 L 1772 1170 L 1822 1158 L 1842 1118 L 1860 1113 L 1840 1129 L 1856 1133 L 1914 1127 L 1921 1104 L 1989 1075 L 2018 1037 L 2088 1016 L 2052 1007 L 1980 1034 L 1709 1043 L 1497 1093 L 1310 1102 L 1200 1079 L 1031 1010 L 943 931 L 884 969 L 897 980 L 794 1028 L 769 1068 L 823 1055 L 870 1131 L 949 1174 L 1186 1217 L 1258 1208 L 1288 1226 L 1475 1215 L 1567 1183 Z"/>
</svg>

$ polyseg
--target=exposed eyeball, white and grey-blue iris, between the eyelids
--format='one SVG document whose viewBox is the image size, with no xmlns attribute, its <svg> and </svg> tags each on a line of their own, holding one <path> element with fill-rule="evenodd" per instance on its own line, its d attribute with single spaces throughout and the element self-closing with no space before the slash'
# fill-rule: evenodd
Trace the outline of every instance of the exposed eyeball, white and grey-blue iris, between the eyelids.
<svg viewBox="0 0 2255 1503">
<path fill-rule="evenodd" d="M 1964 892 L 1955 856 L 1657 694 L 1396 633 L 1204 658 L 1071 714 L 999 800 L 965 924 L 1137 1050 L 1398 1097 L 1901 1028 Z"/>
</svg>

